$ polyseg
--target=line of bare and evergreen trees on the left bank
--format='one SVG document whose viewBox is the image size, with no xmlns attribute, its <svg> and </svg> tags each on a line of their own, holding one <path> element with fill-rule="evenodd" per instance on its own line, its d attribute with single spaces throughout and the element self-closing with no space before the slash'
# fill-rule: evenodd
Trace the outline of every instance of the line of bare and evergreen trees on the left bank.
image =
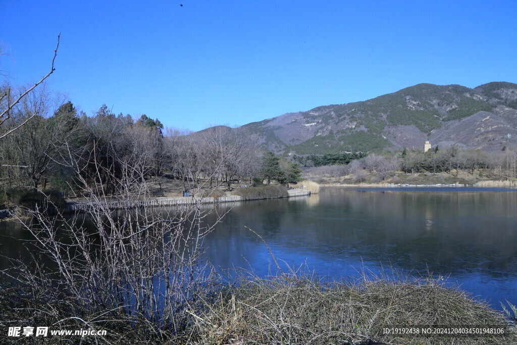
<svg viewBox="0 0 517 345">
<path fill-rule="evenodd" d="M 3 129 L 10 128 L 17 130 L 0 141 L 4 203 L 20 189 L 52 188 L 79 196 L 83 179 L 98 194 L 120 194 L 137 173 L 179 179 L 185 190 L 200 179 L 208 187 L 223 184 L 230 190 L 239 181 L 288 184 L 300 176 L 297 164 L 264 153 L 245 131 L 226 126 L 195 133 L 164 128 L 158 119 L 116 115 L 105 104 L 87 116 L 45 84 L 10 109 Z M 273 168 L 271 159 L 278 159 Z"/>
</svg>

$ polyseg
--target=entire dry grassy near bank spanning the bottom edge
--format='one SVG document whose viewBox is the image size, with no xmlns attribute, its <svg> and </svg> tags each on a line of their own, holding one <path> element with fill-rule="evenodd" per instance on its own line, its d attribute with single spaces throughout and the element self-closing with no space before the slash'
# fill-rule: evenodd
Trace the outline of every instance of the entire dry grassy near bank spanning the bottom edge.
<svg viewBox="0 0 517 345">
<path fill-rule="evenodd" d="M 195 292 L 192 303 L 178 317 L 181 322 L 168 328 L 142 321 L 138 312 L 129 315 L 124 308 L 92 310 L 86 301 L 2 288 L 0 326 L 6 330 L 0 333 L 2 343 L 26 341 L 8 337 L 9 326 L 105 329 L 108 332 L 103 337 L 68 338 L 71 342 L 111 344 L 517 343 L 517 328 L 510 325 L 505 314 L 435 279 L 362 277 L 327 283 L 312 276 L 285 275 L 242 278 L 233 284 L 212 282 L 205 290 Z M 505 336 L 383 333 L 383 328 L 412 325 L 507 328 Z M 45 343 L 62 340 L 54 336 Z"/>
</svg>

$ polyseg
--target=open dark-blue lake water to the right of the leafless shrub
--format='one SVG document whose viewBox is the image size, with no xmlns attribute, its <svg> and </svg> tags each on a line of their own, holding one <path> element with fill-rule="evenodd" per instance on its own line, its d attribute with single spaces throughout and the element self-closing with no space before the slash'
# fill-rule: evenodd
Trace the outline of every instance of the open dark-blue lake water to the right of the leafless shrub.
<svg viewBox="0 0 517 345">
<path fill-rule="evenodd" d="M 496 309 L 505 300 L 517 304 L 515 190 L 324 188 L 310 197 L 240 202 L 205 239 L 205 258 L 222 270 L 265 276 L 276 266 L 245 226 L 284 269 L 301 265 L 327 279 L 383 268 L 430 272 Z"/>
</svg>

